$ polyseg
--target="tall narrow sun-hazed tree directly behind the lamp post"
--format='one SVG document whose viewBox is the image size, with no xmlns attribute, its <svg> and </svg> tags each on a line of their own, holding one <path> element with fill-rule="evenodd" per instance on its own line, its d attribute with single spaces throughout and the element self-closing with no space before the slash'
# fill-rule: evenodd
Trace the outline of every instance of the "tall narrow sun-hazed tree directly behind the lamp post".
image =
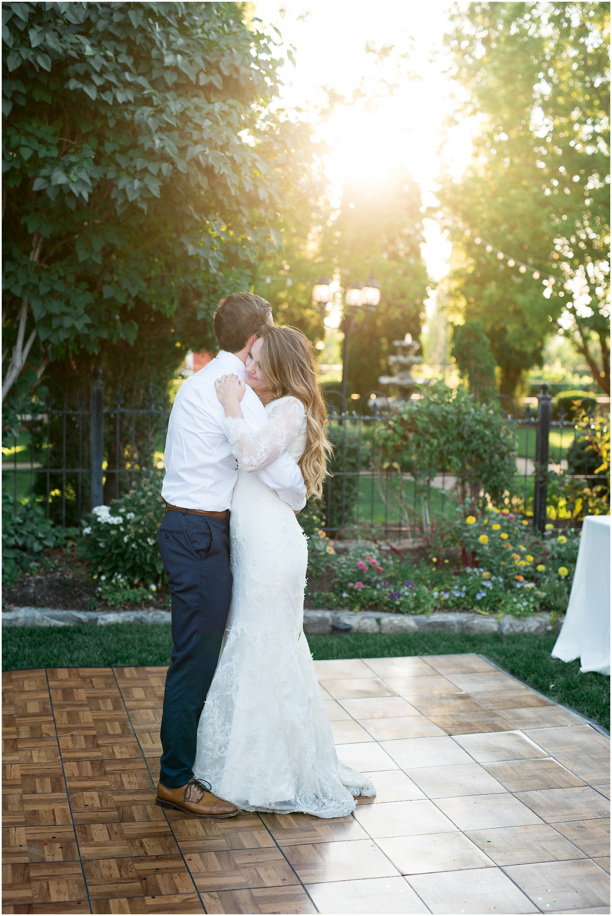
<svg viewBox="0 0 612 916">
<path fill-rule="evenodd" d="M 419 188 L 405 169 L 370 182 L 349 178 L 341 209 L 322 227 L 321 273 L 331 276 L 338 269 L 347 287 L 373 271 L 381 284 L 378 309 L 360 315 L 349 338 L 349 394 L 380 389 L 393 341 L 407 332 L 417 340 L 421 333 L 429 280 L 420 249 L 420 206 Z"/>
</svg>

